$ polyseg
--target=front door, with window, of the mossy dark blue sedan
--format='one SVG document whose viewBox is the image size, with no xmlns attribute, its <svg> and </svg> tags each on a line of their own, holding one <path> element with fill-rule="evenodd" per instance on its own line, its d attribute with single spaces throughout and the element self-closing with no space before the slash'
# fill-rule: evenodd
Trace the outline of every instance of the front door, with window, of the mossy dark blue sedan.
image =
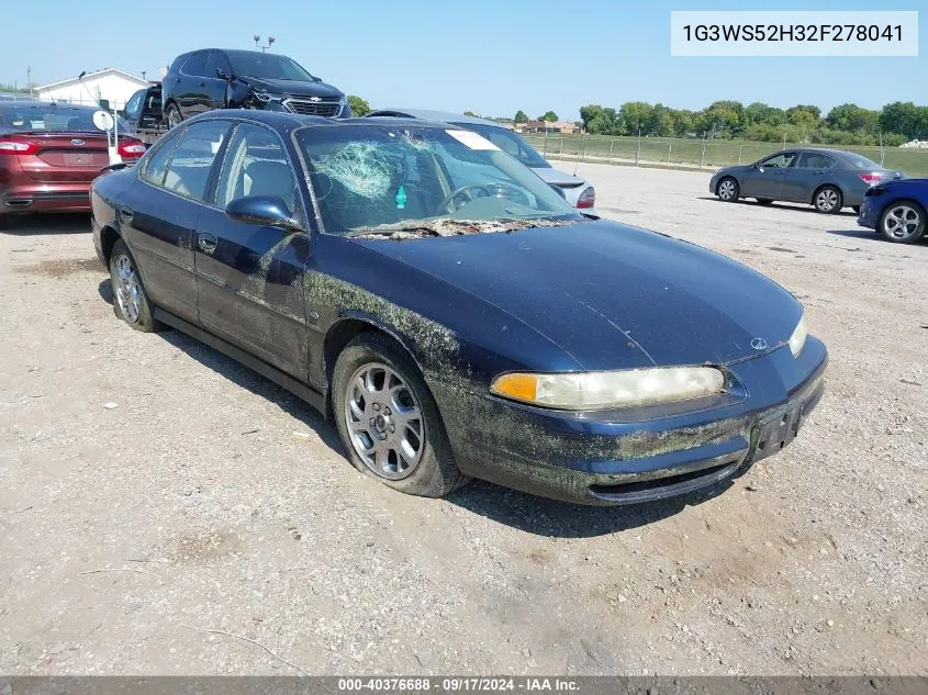
<svg viewBox="0 0 928 695">
<path fill-rule="evenodd" d="M 241 123 L 230 138 L 212 205 L 197 225 L 200 322 L 261 360 L 305 380 L 303 272 L 310 239 L 291 229 L 230 220 L 246 195 L 277 195 L 305 221 L 293 165 L 279 135 Z"/>
</svg>

